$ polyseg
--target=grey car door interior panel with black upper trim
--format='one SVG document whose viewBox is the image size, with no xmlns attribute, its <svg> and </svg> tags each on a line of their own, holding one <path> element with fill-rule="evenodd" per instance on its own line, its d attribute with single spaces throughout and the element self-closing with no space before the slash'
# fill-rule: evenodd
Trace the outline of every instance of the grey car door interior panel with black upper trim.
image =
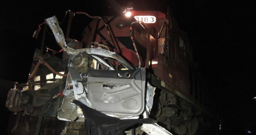
<svg viewBox="0 0 256 135">
<path fill-rule="evenodd" d="M 146 69 L 89 69 L 88 99 L 97 111 L 138 116 L 144 110 Z"/>
</svg>

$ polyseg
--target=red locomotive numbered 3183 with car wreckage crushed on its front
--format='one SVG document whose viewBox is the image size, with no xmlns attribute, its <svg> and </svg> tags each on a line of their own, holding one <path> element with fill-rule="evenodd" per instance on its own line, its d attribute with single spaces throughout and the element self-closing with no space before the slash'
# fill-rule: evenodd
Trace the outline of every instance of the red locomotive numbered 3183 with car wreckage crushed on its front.
<svg viewBox="0 0 256 135">
<path fill-rule="evenodd" d="M 42 36 L 42 45 L 28 82 L 8 92 L 10 135 L 221 132 L 221 116 L 196 74 L 188 36 L 169 8 L 130 9 L 120 16 L 67 11 L 65 36 L 56 16 L 39 24 L 33 37 Z M 80 41 L 69 38 L 77 14 L 91 19 Z M 44 45 L 49 30 L 60 51 Z"/>
</svg>

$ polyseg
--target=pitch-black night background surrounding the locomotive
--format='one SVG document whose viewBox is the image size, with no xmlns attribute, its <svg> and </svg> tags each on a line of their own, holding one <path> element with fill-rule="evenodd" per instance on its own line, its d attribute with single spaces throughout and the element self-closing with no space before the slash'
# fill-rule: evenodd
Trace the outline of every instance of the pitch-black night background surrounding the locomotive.
<svg viewBox="0 0 256 135">
<path fill-rule="evenodd" d="M 1 126 L 7 134 L 10 112 L 5 107 L 12 81 L 26 82 L 37 42 L 32 38 L 38 24 L 55 15 L 59 22 L 65 11 L 90 15 L 117 15 L 129 1 L 1 1 L 0 89 Z M 138 0 L 135 10 L 172 9 L 181 30 L 193 46 L 194 62 L 209 87 L 223 118 L 223 135 L 256 132 L 256 2 L 255 0 Z M 79 18 L 79 17 L 78 17 Z M 75 19 L 75 18 L 74 18 Z M 66 18 L 67 20 L 67 18 Z M 72 26 L 75 38 L 89 20 L 79 18 Z M 74 32 L 75 31 L 75 32 Z M 72 32 L 72 31 L 71 31 Z M 57 45 L 57 44 L 56 44 Z"/>
</svg>

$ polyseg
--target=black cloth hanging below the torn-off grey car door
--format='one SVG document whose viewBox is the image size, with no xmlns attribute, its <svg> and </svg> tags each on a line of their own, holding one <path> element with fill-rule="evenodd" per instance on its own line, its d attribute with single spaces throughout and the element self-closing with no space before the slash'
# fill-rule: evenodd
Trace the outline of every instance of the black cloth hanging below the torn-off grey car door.
<svg viewBox="0 0 256 135">
<path fill-rule="evenodd" d="M 150 118 L 118 119 L 87 107 L 78 100 L 74 100 L 73 103 L 82 109 L 83 115 L 86 117 L 84 121 L 86 135 L 123 135 L 125 129 L 137 123 L 154 124 L 157 122 Z"/>
</svg>

